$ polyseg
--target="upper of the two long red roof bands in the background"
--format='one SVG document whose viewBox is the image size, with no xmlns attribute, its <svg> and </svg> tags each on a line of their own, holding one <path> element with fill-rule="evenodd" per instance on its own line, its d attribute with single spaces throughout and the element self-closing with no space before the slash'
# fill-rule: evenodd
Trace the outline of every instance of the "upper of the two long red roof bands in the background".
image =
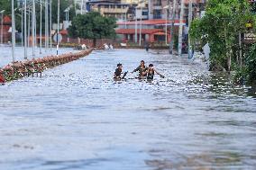
<svg viewBox="0 0 256 170">
<path fill-rule="evenodd" d="M 179 23 L 179 20 L 175 20 L 175 23 Z M 140 24 L 141 21 L 138 21 L 137 24 Z M 172 23 L 172 21 L 168 20 L 167 23 Z M 183 23 L 186 23 L 183 20 Z M 117 22 L 118 25 L 125 25 L 125 22 Z M 135 22 L 126 22 L 126 25 L 134 25 Z M 143 20 L 142 25 L 158 25 L 158 24 L 166 24 L 166 20 L 158 19 L 158 20 Z"/>
</svg>

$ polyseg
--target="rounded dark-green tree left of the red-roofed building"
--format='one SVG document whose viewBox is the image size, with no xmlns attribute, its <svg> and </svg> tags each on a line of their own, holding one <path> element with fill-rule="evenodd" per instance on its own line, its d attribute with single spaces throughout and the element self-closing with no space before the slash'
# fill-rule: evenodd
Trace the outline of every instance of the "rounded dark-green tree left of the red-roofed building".
<svg viewBox="0 0 256 170">
<path fill-rule="evenodd" d="M 102 16 L 100 13 L 78 14 L 69 27 L 69 35 L 73 38 L 92 39 L 96 46 L 97 39 L 113 38 L 116 26 L 114 18 Z"/>
</svg>

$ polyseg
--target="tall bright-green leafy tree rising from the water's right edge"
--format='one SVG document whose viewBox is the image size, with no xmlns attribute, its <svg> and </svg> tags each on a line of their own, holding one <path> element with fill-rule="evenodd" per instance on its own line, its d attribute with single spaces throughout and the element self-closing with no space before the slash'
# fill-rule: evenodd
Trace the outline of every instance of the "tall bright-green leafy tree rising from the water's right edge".
<svg viewBox="0 0 256 170">
<path fill-rule="evenodd" d="M 226 70 L 239 64 L 239 34 L 246 32 L 246 23 L 253 20 L 247 0 L 209 0 L 206 15 L 192 22 L 190 35 L 195 41 L 209 42 L 212 65 Z"/>
</svg>

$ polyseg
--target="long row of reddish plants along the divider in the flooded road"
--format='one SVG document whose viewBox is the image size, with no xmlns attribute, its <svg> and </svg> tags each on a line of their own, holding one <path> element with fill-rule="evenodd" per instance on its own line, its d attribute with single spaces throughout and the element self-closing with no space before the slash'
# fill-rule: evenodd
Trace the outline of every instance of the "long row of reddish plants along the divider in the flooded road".
<svg viewBox="0 0 256 170">
<path fill-rule="evenodd" d="M 32 58 L 31 60 L 16 61 L 0 68 L 0 83 L 16 80 L 23 76 L 41 76 L 41 72 L 47 68 L 57 67 L 83 58 L 90 54 L 93 49 L 66 53 L 59 56 L 47 56 L 44 58 Z"/>
</svg>

